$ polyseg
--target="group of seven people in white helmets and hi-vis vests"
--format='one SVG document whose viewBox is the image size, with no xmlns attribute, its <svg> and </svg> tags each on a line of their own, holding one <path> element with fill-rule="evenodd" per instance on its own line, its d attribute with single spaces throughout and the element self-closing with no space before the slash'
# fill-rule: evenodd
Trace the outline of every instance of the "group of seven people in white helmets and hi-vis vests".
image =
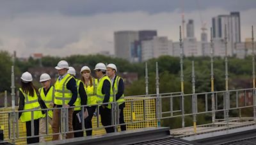
<svg viewBox="0 0 256 145">
<path fill-rule="evenodd" d="M 92 77 L 92 71 L 88 66 L 81 68 L 81 79 L 76 78 L 74 67 L 68 66 L 68 62 L 61 60 L 55 69 L 58 71 L 58 78 L 54 85 L 51 85 L 51 76 L 44 73 L 40 76 L 42 88 L 37 89 L 32 81 L 32 75 L 24 72 L 20 77 L 19 88 L 19 119 L 26 122 L 27 143 L 44 142 L 44 137 L 29 137 L 31 132 L 34 135 L 45 134 L 47 122 L 52 127 L 52 141 L 61 139 L 60 123 L 61 108 L 66 108 L 66 120 L 68 118 L 68 133 L 66 138 L 83 137 L 84 132 L 72 132 L 82 130 L 80 112 L 88 113 L 84 119 L 86 136 L 92 135 L 92 118 L 97 106 L 102 125 L 107 133 L 115 132 L 111 126 L 111 103 L 117 102 L 119 111 L 119 123 L 124 124 L 124 80 L 116 75 L 115 64 L 96 64 L 94 71 L 97 78 Z M 83 107 L 81 107 L 83 106 Z M 84 109 L 84 111 L 81 111 Z M 24 110 L 24 111 L 22 111 Z M 33 111 L 26 111 L 33 110 Z M 46 111 L 47 110 L 47 111 Z M 78 115 L 77 115 L 78 114 Z M 80 113 L 81 114 L 81 113 Z M 47 115 L 47 116 L 46 116 Z M 33 118 L 33 123 L 31 123 Z M 83 118 L 82 118 L 83 119 Z M 34 130 L 31 130 L 34 125 Z M 106 127 L 108 126 L 108 127 Z M 126 130 L 125 125 L 120 126 Z"/>
</svg>

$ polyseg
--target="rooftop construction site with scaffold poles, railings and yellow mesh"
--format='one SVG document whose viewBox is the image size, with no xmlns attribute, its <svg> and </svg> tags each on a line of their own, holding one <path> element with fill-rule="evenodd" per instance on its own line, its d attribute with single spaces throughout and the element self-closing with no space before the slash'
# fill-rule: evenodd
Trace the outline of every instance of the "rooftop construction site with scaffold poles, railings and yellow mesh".
<svg viewBox="0 0 256 145">
<path fill-rule="evenodd" d="M 211 34 L 212 36 L 212 34 Z M 52 128 L 49 123 L 46 125 L 46 134 L 39 135 L 44 137 L 46 142 L 38 144 L 256 144 L 256 88 L 255 88 L 255 55 L 254 37 L 252 27 L 252 88 L 228 88 L 228 57 L 227 57 L 227 37 L 226 56 L 223 58 L 225 63 L 225 90 L 214 90 L 214 54 L 211 51 L 211 92 L 196 93 L 195 66 L 191 62 L 191 92 L 184 93 L 184 74 L 183 74 L 183 53 L 180 53 L 180 92 L 159 93 L 159 64 L 156 62 L 156 94 L 148 94 L 148 66 L 145 64 L 145 94 L 125 96 L 124 119 L 127 130 L 120 132 L 118 120 L 118 103 L 109 102 L 111 108 L 111 126 L 115 132 L 106 134 L 100 123 L 99 106 L 97 104 L 97 115 L 93 116 L 93 127 L 84 128 L 82 120 L 82 131 L 84 137 L 66 139 L 68 130 L 67 109 L 61 108 L 61 130 L 62 140 L 52 141 Z M 211 48 L 214 42 L 211 37 Z M 180 52 L 183 52 L 182 34 L 180 27 Z M 12 92 L 7 96 L 5 92 L 4 107 L 0 108 L 0 138 L 1 144 L 26 144 L 26 124 L 19 121 L 19 112 L 36 110 L 18 111 L 15 106 L 15 72 L 12 67 Z M 179 84 L 177 84 L 179 85 Z M 12 106 L 7 106 L 7 98 L 12 99 Z M 198 106 L 198 100 L 204 100 L 203 106 Z M 243 99 L 244 104 L 239 104 Z M 250 99 L 252 103 L 246 103 Z M 174 101 L 175 100 L 175 101 Z M 189 100 L 188 106 L 184 102 Z M 17 101 L 17 100 L 16 100 Z M 163 108 L 163 102 L 169 104 Z M 179 102 L 179 108 L 173 107 L 174 103 Z M 86 106 L 81 106 L 82 108 Z M 200 107 L 200 110 L 198 109 Z M 203 109 L 202 109 L 203 108 Z M 253 116 L 244 117 L 242 109 L 252 111 Z M 46 114 L 51 109 L 43 109 Z M 83 111 L 84 109 L 82 109 Z M 185 111 L 190 110 L 190 111 Z M 230 117 L 230 113 L 236 111 Z M 211 116 L 211 122 L 198 125 L 197 118 L 200 115 Z M 216 114 L 222 114 L 223 118 L 216 118 Z M 185 118 L 192 116 L 191 122 L 186 122 Z M 47 116 L 48 117 L 48 116 Z M 31 117 L 33 118 L 33 117 Z M 178 118 L 182 127 L 170 129 L 162 127 L 161 122 L 170 118 Z M 33 125 L 32 125 L 33 126 Z M 31 130 L 34 128 L 31 127 Z M 92 136 L 86 137 L 86 130 L 92 130 Z M 81 131 L 81 130 L 80 130 Z M 77 132 L 77 131 L 72 131 Z M 38 137 L 32 134 L 31 137 Z"/>
</svg>

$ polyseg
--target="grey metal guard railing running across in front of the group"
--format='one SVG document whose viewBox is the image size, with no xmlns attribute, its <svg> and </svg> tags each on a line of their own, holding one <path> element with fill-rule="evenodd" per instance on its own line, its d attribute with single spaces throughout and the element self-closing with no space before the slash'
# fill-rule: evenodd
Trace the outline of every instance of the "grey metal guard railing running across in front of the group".
<svg viewBox="0 0 256 145">
<path fill-rule="evenodd" d="M 255 91 L 255 88 L 244 88 L 244 89 L 237 89 L 237 90 L 224 90 L 224 91 L 215 91 L 215 92 L 204 92 L 204 93 L 189 93 L 189 94 L 182 94 L 181 92 L 173 92 L 173 93 L 159 93 L 158 97 L 159 97 L 159 101 L 160 102 L 165 102 L 166 103 L 166 100 L 163 100 L 163 99 L 170 99 L 170 109 L 168 109 L 167 111 L 163 111 L 163 108 L 161 107 L 162 104 L 156 104 L 156 108 L 159 107 L 160 110 L 159 111 L 156 111 L 153 112 L 155 113 L 154 114 L 154 118 L 148 118 L 147 116 L 145 116 L 145 110 L 147 109 L 147 107 L 143 107 L 143 114 L 141 114 L 141 116 L 143 116 L 143 118 L 141 120 L 133 120 L 132 118 L 132 113 L 134 111 L 134 104 L 136 103 L 136 101 L 143 101 L 143 103 L 145 103 L 145 101 L 147 100 L 154 100 L 156 101 L 157 100 L 157 94 L 150 94 L 150 95 L 134 95 L 134 96 L 128 96 L 128 97 L 125 97 L 125 103 L 126 104 L 131 104 L 131 106 L 129 107 L 131 113 L 129 113 L 131 116 L 125 116 L 126 118 L 130 118 L 129 121 L 125 121 L 125 123 L 120 123 L 118 121 L 118 115 L 113 115 L 112 116 L 112 119 L 113 120 L 116 120 L 116 121 L 112 121 L 111 125 L 109 126 L 105 126 L 105 127 L 100 127 L 99 126 L 99 106 L 102 106 L 102 105 L 108 105 L 108 104 L 111 104 L 113 107 L 113 109 L 111 109 L 111 111 L 113 113 L 118 113 L 118 104 L 117 102 L 105 102 L 105 103 L 100 103 L 100 104 L 95 104 L 95 106 L 97 106 L 97 111 L 98 111 L 98 115 L 97 115 L 97 127 L 96 128 L 84 128 L 84 125 L 83 125 L 83 129 L 82 130 L 74 130 L 74 131 L 70 131 L 70 130 L 66 130 L 64 129 L 65 131 L 64 132 L 59 132 L 59 133 L 56 133 L 56 134 L 67 134 L 67 133 L 70 133 L 70 132 L 79 132 L 79 131 L 86 131 L 86 130 L 94 130 L 94 129 L 100 129 L 100 128 L 106 128 L 106 127 L 115 127 L 117 128 L 119 125 L 131 125 L 132 123 L 141 123 L 141 122 L 147 122 L 147 121 L 159 121 L 159 120 L 165 120 L 165 119 L 169 119 L 169 118 L 179 118 L 179 117 L 182 117 L 184 118 L 185 116 L 194 116 L 196 118 L 196 115 L 198 114 L 212 114 L 212 113 L 223 113 L 225 111 L 231 111 L 231 110 L 236 110 L 236 109 L 244 109 L 244 108 L 252 108 L 252 107 L 255 107 L 255 105 L 248 105 L 248 104 L 243 104 L 243 106 L 239 106 L 238 104 L 238 97 L 239 97 L 239 94 L 240 93 L 243 93 L 243 94 L 246 94 L 246 93 L 252 93 L 253 94 L 253 99 L 255 98 L 254 97 L 254 94 L 253 93 Z M 234 93 L 232 95 L 232 93 Z M 179 94 L 179 95 L 177 95 Z M 211 99 L 211 94 L 214 94 L 214 97 L 216 97 L 216 108 L 214 110 L 212 109 L 209 109 L 208 108 L 208 103 L 211 104 L 211 101 L 208 101 L 208 99 Z M 230 95 L 230 98 L 231 97 L 236 97 L 236 99 L 230 99 L 229 102 L 225 102 L 224 99 L 221 99 L 218 101 L 218 99 L 222 98 L 222 97 L 225 97 L 225 95 Z M 198 103 L 194 104 L 195 105 L 195 109 L 196 109 L 196 113 L 195 112 L 186 112 L 185 110 L 188 109 L 189 106 L 179 106 L 179 109 L 174 109 L 173 107 L 173 99 L 176 98 L 179 100 L 179 102 L 182 102 L 182 104 L 184 104 L 185 100 L 186 99 L 192 99 L 193 96 L 196 96 L 198 97 L 197 101 L 200 101 L 200 100 L 204 100 L 205 101 L 205 104 L 204 104 L 204 107 L 205 109 L 201 110 L 201 111 L 197 111 L 197 108 L 198 108 Z M 129 100 L 127 100 L 129 99 Z M 156 103 L 156 102 L 155 102 Z M 192 103 L 190 103 L 190 106 L 192 106 Z M 225 105 L 228 104 L 236 104 L 235 106 L 232 105 L 232 106 L 229 106 L 228 108 L 225 107 Z M 222 108 L 218 108 L 218 105 L 220 106 L 223 106 Z M 84 110 L 84 107 L 88 107 L 88 105 L 82 105 L 82 106 L 71 106 L 70 108 L 74 108 L 74 107 L 82 107 Z M 20 111 L 13 111 L 13 110 L 10 110 L 10 111 L 3 111 L 3 112 L 0 112 L 0 114 L 17 114 L 18 113 L 24 113 L 24 112 L 29 112 L 29 111 L 32 111 L 32 112 L 35 112 L 35 111 L 48 111 L 49 110 L 54 110 L 54 109 L 65 109 L 64 107 L 54 107 L 54 108 L 49 108 L 49 109 L 39 109 L 39 110 L 35 110 L 35 109 L 29 109 L 29 110 L 20 110 Z M 166 110 L 166 108 L 164 108 Z M 191 109 L 190 109 L 191 110 Z M 68 113 L 68 109 L 65 109 L 66 113 Z M 115 112 L 116 111 L 116 112 Z M 113 114 L 112 113 L 112 114 Z M 158 114 L 157 114 L 158 113 Z M 31 118 L 33 117 L 33 114 L 34 113 L 31 113 Z M 9 115 L 9 116 L 12 116 L 12 115 Z M 227 116 L 229 118 L 229 116 Z M 238 117 L 238 116 L 237 116 Z M 252 116 L 253 117 L 253 116 Z M 17 117 L 16 117 L 17 118 Z M 255 117 L 253 117 L 255 118 Z M 14 118 L 15 119 L 15 118 Z M 10 120 L 13 120 L 13 122 L 18 122 L 18 120 L 14 120 L 13 118 L 10 118 Z M 215 120 L 217 121 L 217 120 Z M 48 127 L 48 122 L 46 121 L 47 123 L 47 127 Z M 65 121 L 65 123 L 68 123 L 67 121 Z M 84 120 L 83 120 L 83 123 L 84 123 Z M 185 124 L 185 122 L 183 122 L 182 120 L 182 124 Z M 65 127 L 68 127 L 68 125 L 64 125 Z M 197 126 L 197 125 L 196 125 Z M 17 125 L 17 127 L 19 127 L 19 125 Z M 227 127 L 228 127 L 228 122 L 227 122 Z M 10 130 L 11 128 L 9 128 L 9 132 L 11 131 Z M 33 128 L 31 128 L 33 129 Z M 9 139 L 7 139 L 6 141 L 13 141 L 13 140 L 16 140 L 16 139 L 27 139 L 27 138 L 30 138 L 30 137 L 20 137 L 19 136 L 19 130 L 15 130 L 15 134 L 14 136 L 10 137 L 9 136 Z M 56 134 L 49 134 L 49 132 L 47 131 L 46 134 L 44 135 L 32 135 L 31 137 L 42 137 L 42 136 L 49 136 L 49 135 L 56 135 Z"/>
</svg>

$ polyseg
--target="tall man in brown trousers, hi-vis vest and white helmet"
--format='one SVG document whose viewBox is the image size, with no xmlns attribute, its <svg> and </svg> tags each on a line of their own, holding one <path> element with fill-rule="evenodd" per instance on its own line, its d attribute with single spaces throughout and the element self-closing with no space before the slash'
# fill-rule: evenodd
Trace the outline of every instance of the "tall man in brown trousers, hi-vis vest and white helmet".
<svg viewBox="0 0 256 145">
<path fill-rule="evenodd" d="M 65 60 L 61 60 L 58 65 L 55 67 L 58 71 L 59 77 L 56 80 L 55 93 L 54 93 L 54 108 L 65 107 L 68 108 L 68 132 L 73 131 L 72 126 L 72 114 L 74 112 L 74 108 L 70 108 L 70 106 L 74 106 L 74 103 L 77 99 L 77 87 L 76 80 L 73 76 L 67 73 L 68 71 L 68 62 Z M 52 118 L 52 132 L 58 133 L 60 132 L 60 119 L 61 119 L 61 109 L 54 109 L 53 118 Z M 66 117 L 67 117 L 66 116 Z M 61 121 L 61 123 L 65 123 Z M 67 129 L 67 128 L 66 128 Z M 64 130 L 67 131 L 67 130 Z M 59 135 L 52 135 L 52 141 L 58 140 Z M 68 133 L 67 139 L 73 138 L 74 133 Z"/>
</svg>

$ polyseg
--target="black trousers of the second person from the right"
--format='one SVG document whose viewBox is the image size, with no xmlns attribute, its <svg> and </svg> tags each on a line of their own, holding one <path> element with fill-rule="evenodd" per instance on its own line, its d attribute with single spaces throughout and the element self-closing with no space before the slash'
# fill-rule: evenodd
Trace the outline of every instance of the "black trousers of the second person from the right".
<svg viewBox="0 0 256 145">
<path fill-rule="evenodd" d="M 104 127 L 111 125 L 111 109 L 100 106 L 100 118 Z M 107 133 L 115 132 L 114 127 L 106 127 L 105 130 Z"/>
</svg>

